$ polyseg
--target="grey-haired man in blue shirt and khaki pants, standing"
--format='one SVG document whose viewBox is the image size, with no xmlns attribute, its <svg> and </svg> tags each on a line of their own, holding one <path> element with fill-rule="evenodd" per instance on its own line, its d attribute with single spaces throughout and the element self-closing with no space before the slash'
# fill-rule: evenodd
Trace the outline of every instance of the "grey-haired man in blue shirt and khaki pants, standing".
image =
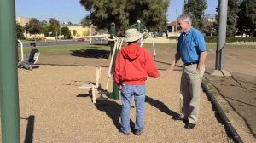
<svg viewBox="0 0 256 143">
<path fill-rule="evenodd" d="M 183 60 L 183 73 L 180 84 L 180 116 L 174 119 L 185 121 L 185 129 L 193 129 L 197 123 L 200 108 L 201 77 L 205 71 L 207 48 L 201 32 L 192 26 L 189 15 L 181 15 L 177 18 L 181 27 L 181 35 L 178 37 L 177 52 L 172 66 L 167 72 L 172 72 L 175 64 L 181 58 Z"/>
</svg>

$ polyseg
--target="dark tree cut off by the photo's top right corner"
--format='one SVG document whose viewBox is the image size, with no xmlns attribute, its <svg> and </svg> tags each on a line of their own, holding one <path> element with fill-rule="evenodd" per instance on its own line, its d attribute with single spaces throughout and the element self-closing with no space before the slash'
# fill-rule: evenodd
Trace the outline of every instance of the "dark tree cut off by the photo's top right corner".
<svg viewBox="0 0 256 143">
<path fill-rule="evenodd" d="M 256 0 L 244 0 L 241 2 L 238 13 L 237 28 L 243 34 L 246 33 L 250 37 L 256 37 Z"/>
</svg>

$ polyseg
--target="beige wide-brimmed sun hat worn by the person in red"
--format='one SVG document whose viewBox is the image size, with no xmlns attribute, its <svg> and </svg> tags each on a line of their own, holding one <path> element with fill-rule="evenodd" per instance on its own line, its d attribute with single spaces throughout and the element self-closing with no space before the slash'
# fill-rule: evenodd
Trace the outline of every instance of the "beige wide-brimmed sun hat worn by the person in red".
<svg viewBox="0 0 256 143">
<path fill-rule="evenodd" d="M 143 37 L 143 34 L 138 32 L 137 29 L 131 28 L 125 31 L 124 42 L 135 42 Z"/>
</svg>

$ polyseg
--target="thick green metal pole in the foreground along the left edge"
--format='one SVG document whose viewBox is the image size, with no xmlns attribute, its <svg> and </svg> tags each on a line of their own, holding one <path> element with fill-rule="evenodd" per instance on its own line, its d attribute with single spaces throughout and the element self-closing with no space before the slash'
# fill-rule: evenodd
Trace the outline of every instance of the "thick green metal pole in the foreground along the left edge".
<svg viewBox="0 0 256 143">
<path fill-rule="evenodd" d="M 0 1 L 0 101 L 3 143 L 20 142 L 15 0 Z"/>
</svg>

